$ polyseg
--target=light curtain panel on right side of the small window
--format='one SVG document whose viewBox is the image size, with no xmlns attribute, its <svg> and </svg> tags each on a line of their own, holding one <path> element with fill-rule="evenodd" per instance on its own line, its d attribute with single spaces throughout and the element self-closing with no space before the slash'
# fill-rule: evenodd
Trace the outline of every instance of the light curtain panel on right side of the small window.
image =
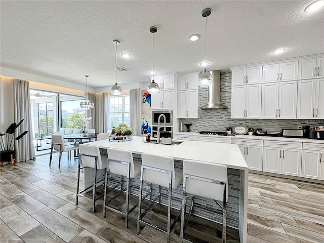
<svg viewBox="0 0 324 243">
<path fill-rule="evenodd" d="M 141 136 L 141 97 L 140 89 L 130 90 L 130 127 L 134 136 Z"/>
</svg>

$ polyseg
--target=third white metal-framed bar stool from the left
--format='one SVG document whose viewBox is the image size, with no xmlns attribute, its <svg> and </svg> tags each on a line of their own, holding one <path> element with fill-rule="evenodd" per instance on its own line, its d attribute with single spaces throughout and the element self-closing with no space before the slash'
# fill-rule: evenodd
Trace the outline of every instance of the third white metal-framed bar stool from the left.
<svg viewBox="0 0 324 243">
<path fill-rule="evenodd" d="M 159 156 L 148 153 L 142 153 L 142 168 L 141 168 L 141 181 L 140 181 L 140 195 L 138 199 L 138 216 L 137 216 L 137 234 L 140 231 L 140 223 L 151 226 L 157 230 L 165 232 L 167 234 L 167 242 L 170 242 L 170 233 L 173 230 L 177 220 L 180 217 L 181 210 L 178 215 L 174 219 L 171 225 L 171 198 L 172 198 L 172 189 L 176 188 L 183 178 L 182 169 L 174 168 L 174 161 L 172 157 L 168 156 Z M 147 182 L 143 184 L 143 182 Z M 157 196 L 151 200 L 152 197 L 152 184 L 158 185 L 158 194 Z M 149 185 L 150 189 L 146 195 L 142 196 L 143 186 Z M 160 191 L 161 186 L 166 187 L 168 189 L 168 223 L 167 230 L 161 229 L 155 225 L 151 225 L 150 223 L 142 220 L 145 214 L 149 211 L 149 209 L 154 205 L 155 201 L 158 199 L 158 203 L 160 204 L 160 197 L 163 195 Z M 151 204 L 148 208 L 141 213 L 141 204 L 142 201 L 149 196 Z"/>
</svg>

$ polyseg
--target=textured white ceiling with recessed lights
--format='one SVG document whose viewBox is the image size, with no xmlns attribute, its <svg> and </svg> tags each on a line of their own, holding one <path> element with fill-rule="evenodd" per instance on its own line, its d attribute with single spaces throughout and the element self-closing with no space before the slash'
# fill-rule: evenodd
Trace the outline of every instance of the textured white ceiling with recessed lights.
<svg viewBox="0 0 324 243">
<path fill-rule="evenodd" d="M 209 70 L 324 53 L 324 10 L 305 13 L 313 1 L 0 1 L 1 66 L 93 88 L 149 82 L 156 74 Z M 201 38 L 190 42 L 198 33 Z M 281 55 L 277 48 L 288 51 Z M 129 59 L 121 53 L 132 55 Z M 123 86 L 122 86 L 123 87 Z"/>
</svg>

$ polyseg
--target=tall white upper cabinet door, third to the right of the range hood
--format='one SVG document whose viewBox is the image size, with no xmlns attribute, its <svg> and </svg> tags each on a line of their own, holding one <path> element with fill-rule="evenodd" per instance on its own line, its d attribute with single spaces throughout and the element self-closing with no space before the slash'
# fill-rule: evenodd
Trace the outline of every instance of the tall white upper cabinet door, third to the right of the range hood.
<svg viewBox="0 0 324 243">
<path fill-rule="evenodd" d="M 262 84 L 261 118 L 277 118 L 279 83 Z"/>
</svg>

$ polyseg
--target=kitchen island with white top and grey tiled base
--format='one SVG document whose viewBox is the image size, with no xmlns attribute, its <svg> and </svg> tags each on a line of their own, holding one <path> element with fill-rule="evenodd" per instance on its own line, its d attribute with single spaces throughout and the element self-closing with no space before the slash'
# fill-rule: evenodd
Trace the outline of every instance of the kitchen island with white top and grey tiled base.
<svg viewBox="0 0 324 243">
<path fill-rule="evenodd" d="M 194 159 L 227 166 L 228 168 L 228 207 L 227 207 L 227 227 L 238 229 L 240 242 L 247 242 L 247 212 L 248 212 L 248 165 L 242 156 L 239 148 L 235 144 L 223 144 L 203 141 L 183 141 L 181 144 L 163 145 L 154 143 L 144 143 L 142 137 L 135 137 L 126 142 L 109 142 L 100 140 L 87 143 L 96 145 L 99 148 L 125 149 L 133 153 L 134 159 L 140 160 L 142 153 L 152 153 L 156 155 L 171 156 L 175 160 L 175 167 L 182 167 L 184 159 Z M 86 174 L 86 173 L 85 173 Z M 91 183 L 86 182 L 85 184 Z M 138 184 L 139 182 L 132 182 Z M 137 191 L 132 190 L 136 194 Z M 175 189 L 175 197 L 182 198 L 182 184 Z M 200 207 L 208 204 L 206 198 L 197 200 Z M 161 203 L 164 204 L 163 201 Z M 181 203 L 173 205 L 180 209 Z M 215 206 L 215 209 L 217 206 Z M 221 215 L 214 215 L 207 209 L 195 211 L 194 214 L 204 218 L 211 218 L 222 222 Z"/>
</svg>

